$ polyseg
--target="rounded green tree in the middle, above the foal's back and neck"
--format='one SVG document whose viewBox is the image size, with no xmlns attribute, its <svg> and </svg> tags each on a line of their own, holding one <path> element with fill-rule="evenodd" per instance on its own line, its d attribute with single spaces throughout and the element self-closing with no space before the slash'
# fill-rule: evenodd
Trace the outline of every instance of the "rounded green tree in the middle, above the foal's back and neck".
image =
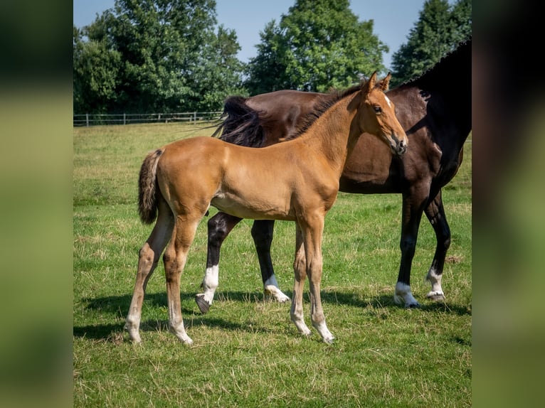
<svg viewBox="0 0 545 408">
<path fill-rule="evenodd" d="M 245 85 L 253 95 L 286 88 L 325 92 L 383 72 L 388 46 L 373 34 L 373 24 L 358 21 L 348 0 L 296 0 L 278 26 L 272 21 L 260 33 Z"/>
</svg>

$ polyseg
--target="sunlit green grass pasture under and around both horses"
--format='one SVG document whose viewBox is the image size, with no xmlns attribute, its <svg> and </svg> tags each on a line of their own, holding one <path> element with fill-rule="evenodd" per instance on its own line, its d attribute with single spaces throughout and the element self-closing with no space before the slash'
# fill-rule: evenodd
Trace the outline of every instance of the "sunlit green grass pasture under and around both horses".
<svg viewBox="0 0 545 408">
<path fill-rule="evenodd" d="M 139 166 L 162 144 L 212 131 L 194 124 L 74 129 L 73 406 L 470 407 L 471 136 L 460 171 L 443 188 L 452 230 L 444 303 L 425 299 L 435 252 L 425 216 L 411 279 L 422 307 L 405 309 L 393 303 L 401 196 L 339 193 L 323 243 L 322 302 L 334 344 L 322 343 L 313 328 L 302 337 L 290 304 L 263 296 L 251 220 L 224 243 L 216 299 L 201 315 L 194 296 L 205 269 L 206 218 L 181 276 L 181 308 L 194 345 L 167 330 L 162 262 L 147 286 L 142 343 L 129 343 L 123 326 L 138 251 L 152 230 L 137 214 Z M 294 249 L 295 225 L 276 222 L 272 259 L 290 297 Z M 307 294 L 304 307 L 311 327 Z"/>
</svg>

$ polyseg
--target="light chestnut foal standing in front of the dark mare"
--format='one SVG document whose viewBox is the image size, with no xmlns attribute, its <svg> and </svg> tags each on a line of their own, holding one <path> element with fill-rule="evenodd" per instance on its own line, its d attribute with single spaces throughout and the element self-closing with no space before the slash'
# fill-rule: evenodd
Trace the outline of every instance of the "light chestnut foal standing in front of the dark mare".
<svg viewBox="0 0 545 408">
<path fill-rule="evenodd" d="M 290 317 L 305 335 L 302 294 L 309 278 L 312 326 L 331 343 L 325 323 L 322 280 L 324 217 L 339 190 L 346 157 L 364 132 L 403 154 L 407 136 L 386 97 L 390 75 L 335 94 L 317 109 L 297 137 L 263 149 L 213 137 L 193 137 L 148 154 L 139 173 L 139 214 L 151 235 L 139 251 L 138 270 L 125 329 L 139 342 L 142 301 L 149 277 L 163 256 L 169 331 L 191 344 L 180 307 L 180 276 L 196 228 L 211 205 L 238 218 L 295 221 L 294 288 Z M 388 151 L 390 151 L 388 149 Z M 168 244 L 168 245 L 167 245 Z"/>
</svg>

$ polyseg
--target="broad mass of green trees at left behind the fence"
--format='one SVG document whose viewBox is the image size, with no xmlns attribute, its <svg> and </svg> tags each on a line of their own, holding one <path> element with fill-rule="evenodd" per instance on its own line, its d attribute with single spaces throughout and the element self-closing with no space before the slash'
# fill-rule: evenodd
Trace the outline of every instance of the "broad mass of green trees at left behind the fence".
<svg viewBox="0 0 545 408">
<path fill-rule="evenodd" d="M 87 67 L 75 70 L 75 111 L 221 109 L 226 96 L 243 91 L 243 63 L 236 33 L 216 25 L 214 0 L 116 0 L 75 35 L 74 66 Z M 110 77 L 98 87 L 109 97 L 83 85 L 92 75 L 100 82 L 101 65 Z"/>
</svg>

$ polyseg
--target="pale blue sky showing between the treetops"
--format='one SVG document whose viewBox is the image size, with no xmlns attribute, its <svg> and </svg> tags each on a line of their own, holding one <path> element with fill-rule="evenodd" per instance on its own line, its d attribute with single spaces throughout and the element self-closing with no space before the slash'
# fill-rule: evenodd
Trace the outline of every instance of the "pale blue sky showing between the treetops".
<svg viewBox="0 0 545 408">
<path fill-rule="evenodd" d="M 216 0 L 218 23 L 236 31 L 242 50 L 238 58 L 248 62 L 255 57 L 255 44 L 260 43 L 260 31 L 273 18 L 278 22 L 295 0 Z M 450 4 L 455 0 L 449 0 Z M 74 24 L 82 27 L 92 23 L 97 14 L 114 6 L 114 0 L 74 0 Z M 407 42 L 411 28 L 418 21 L 424 0 L 351 0 L 350 9 L 359 21 L 374 20 L 373 32 L 388 45 L 383 63 L 391 68 L 391 55 Z"/>
</svg>

